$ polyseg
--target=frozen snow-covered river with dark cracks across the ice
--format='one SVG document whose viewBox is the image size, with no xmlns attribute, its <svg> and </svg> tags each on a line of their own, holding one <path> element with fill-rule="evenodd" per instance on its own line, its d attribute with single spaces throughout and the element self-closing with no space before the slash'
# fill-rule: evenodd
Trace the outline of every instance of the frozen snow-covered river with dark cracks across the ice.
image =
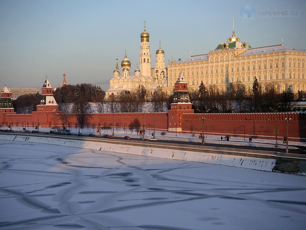
<svg viewBox="0 0 306 230">
<path fill-rule="evenodd" d="M 305 229 L 306 177 L 0 140 L 0 229 Z"/>
</svg>

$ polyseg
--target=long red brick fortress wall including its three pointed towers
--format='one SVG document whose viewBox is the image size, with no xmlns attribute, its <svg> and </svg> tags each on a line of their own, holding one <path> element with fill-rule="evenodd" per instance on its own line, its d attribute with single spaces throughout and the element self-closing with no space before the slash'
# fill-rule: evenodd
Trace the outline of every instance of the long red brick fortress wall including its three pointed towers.
<svg viewBox="0 0 306 230">
<path fill-rule="evenodd" d="M 7 129 L 11 124 L 14 127 L 35 129 L 35 126 L 61 128 L 61 111 L 53 97 L 53 90 L 46 78 L 42 87 L 42 96 L 37 105 L 37 111 L 32 114 L 16 114 L 11 102 L 12 93 L 7 87 L 1 92 L 0 98 L 0 125 Z M 289 141 L 306 142 L 306 114 L 305 113 L 194 113 L 188 96 L 187 82 L 182 74 L 179 75 L 174 87 L 173 101 L 167 113 L 90 113 L 85 117 L 84 128 L 98 128 L 101 124 L 101 133 L 104 126 L 125 128 L 137 118 L 147 135 L 155 130 L 160 132 L 190 133 L 198 136 L 239 136 L 259 139 L 275 140 L 275 129 L 278 130 L 277 139 L 282 141 L 288 128 Z M 79 128 L 77 115 L 67 114 L 67 128 L 77 131 Z M 205 119 L 203 119 L 205 118 Z M 286 120 L 287 119 L 287 120 Z M 276 128 L 277 127 L 277 128 Z M 74 130 L 75 128 L 75 130 Z M 108 131 L 109 132 L 109 131 Z M 136 132 L 134 129 L 133 132 Z"/>
</svg>

